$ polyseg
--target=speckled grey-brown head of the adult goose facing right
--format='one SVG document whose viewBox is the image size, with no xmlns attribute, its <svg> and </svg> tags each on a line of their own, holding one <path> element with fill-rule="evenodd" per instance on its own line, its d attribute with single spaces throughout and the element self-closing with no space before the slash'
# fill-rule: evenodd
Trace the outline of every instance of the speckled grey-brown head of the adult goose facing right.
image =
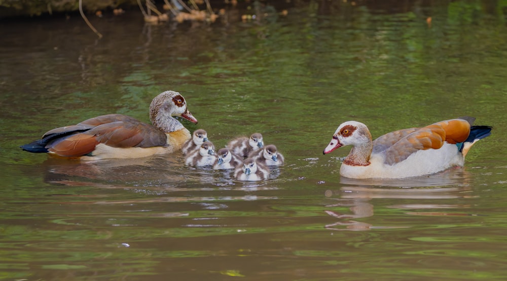
<svg viewBox="0 0 507 281">
<path fill-rule="evenodd" d="M 150 121 L 155 126 L 165 124 L 172 116 L 183 117 L 197 124 L 197 119 L 187 108 L 187 101 L 176 91 L 165 91 L 155 97 L 150 105 Z"/>
</svg>

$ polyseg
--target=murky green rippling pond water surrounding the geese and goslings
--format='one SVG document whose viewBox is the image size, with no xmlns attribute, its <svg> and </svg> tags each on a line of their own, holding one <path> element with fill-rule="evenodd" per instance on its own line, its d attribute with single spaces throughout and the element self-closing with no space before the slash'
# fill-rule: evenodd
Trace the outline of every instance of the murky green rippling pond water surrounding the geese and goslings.
<svg viewBox="0 0 507 281">
<path fill-rule="evenodd" d="M 213 25 L 91 18 L 101 40 L 78 16 L 2 23 L 0 278 L 505 280 L 507 6 L 322 3 L 246 23 L 232 8 Z M 219 147 L 262 132 L 287 165 L 242 183 L 179 155 L 18 149 L 96 115 L 148 121 L 166 89 L 191 130 Z M 347 148 L 322 155 L 346 120 L 376 137 L 463 115 L 494 127 L 464 168 L 359 181 L 339 176 Z"/>
</svg>

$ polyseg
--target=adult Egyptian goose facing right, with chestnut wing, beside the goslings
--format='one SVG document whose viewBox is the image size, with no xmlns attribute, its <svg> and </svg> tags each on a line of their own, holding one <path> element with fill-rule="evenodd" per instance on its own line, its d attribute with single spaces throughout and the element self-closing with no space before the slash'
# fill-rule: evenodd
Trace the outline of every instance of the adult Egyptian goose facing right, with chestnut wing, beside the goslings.
<svg viewBox="0 0 507 281">
<path fill-rule="evenodd" d="M 190 138 L 190 132 L 172 116 L 197 123 L 187 109 L 187 102 L 175 91 L 165 91 L 150 105 L 153 125 L 135 118 L 108 114 L 85 120 L 77 125 L 46 132 L 42 139 L 21 146 L 33 153 L 80 158 L 82 160 L 139 158 L 179 150 Z"/>
</svg>

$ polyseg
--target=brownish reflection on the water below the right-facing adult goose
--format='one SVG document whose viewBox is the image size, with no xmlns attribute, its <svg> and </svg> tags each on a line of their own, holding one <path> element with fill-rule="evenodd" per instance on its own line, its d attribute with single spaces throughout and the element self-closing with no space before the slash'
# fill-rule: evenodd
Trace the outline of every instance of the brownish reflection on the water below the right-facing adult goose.
<svg viewBox="0 0 507 281">
<path fill-rule="evenodd" d="M 91 185 L 109 188 L 183 188 L 187 183 L 220 182 L 212 169 L 183 166 L 183 156 L 152 156 L 137 159 L 63 161 L 43 163 L 45 181 L 52 184 Z"/>
</svg>

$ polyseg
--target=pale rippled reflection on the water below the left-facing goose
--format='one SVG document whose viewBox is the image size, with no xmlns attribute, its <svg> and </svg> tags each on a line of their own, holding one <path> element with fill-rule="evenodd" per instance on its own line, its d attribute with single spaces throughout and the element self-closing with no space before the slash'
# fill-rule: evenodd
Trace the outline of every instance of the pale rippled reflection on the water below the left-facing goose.
<svg viewBox="0 0 507 281">
<path fill-rule="evenodd" d="M 340 182 L 345 184 L 337 191 L 325 191 L 325 197 L 336 203 L 329 204 L 325 210 L 328 215 L 339 221 L 325 225 L 332 230 L 369 230 L 372 228 L 407 228 L 411 226 L 373 225 L 355 219 L 374 216 L 375 206 L 372 199 L 405 199 L 401 204 L 392 204 L 386 208 L 414 210 L 405 212 L 409 215 L 469 215 L 464 213 L 452 214 L 438 212 L 435 209 L 462 209 L 467 205 L 426 203 L 427 200 L 447 200 L 472 198 L 472 188 L 469 185 L 470 176 L 464 168 L 452 169 L 442 173 L 423 177 L 388 180 L 358 180 L 342 177 Z M 409 201 L 407 201 L 409 200 Z M 421 203 L 423 201 L 424 203 Z M 350 213 L 333 210 L 334 207 L 349 207 Z M 420 210 L 431 209 L 431 212 Z M 418 211 L 415 211 L 418 210 Z"/>
</svg>

